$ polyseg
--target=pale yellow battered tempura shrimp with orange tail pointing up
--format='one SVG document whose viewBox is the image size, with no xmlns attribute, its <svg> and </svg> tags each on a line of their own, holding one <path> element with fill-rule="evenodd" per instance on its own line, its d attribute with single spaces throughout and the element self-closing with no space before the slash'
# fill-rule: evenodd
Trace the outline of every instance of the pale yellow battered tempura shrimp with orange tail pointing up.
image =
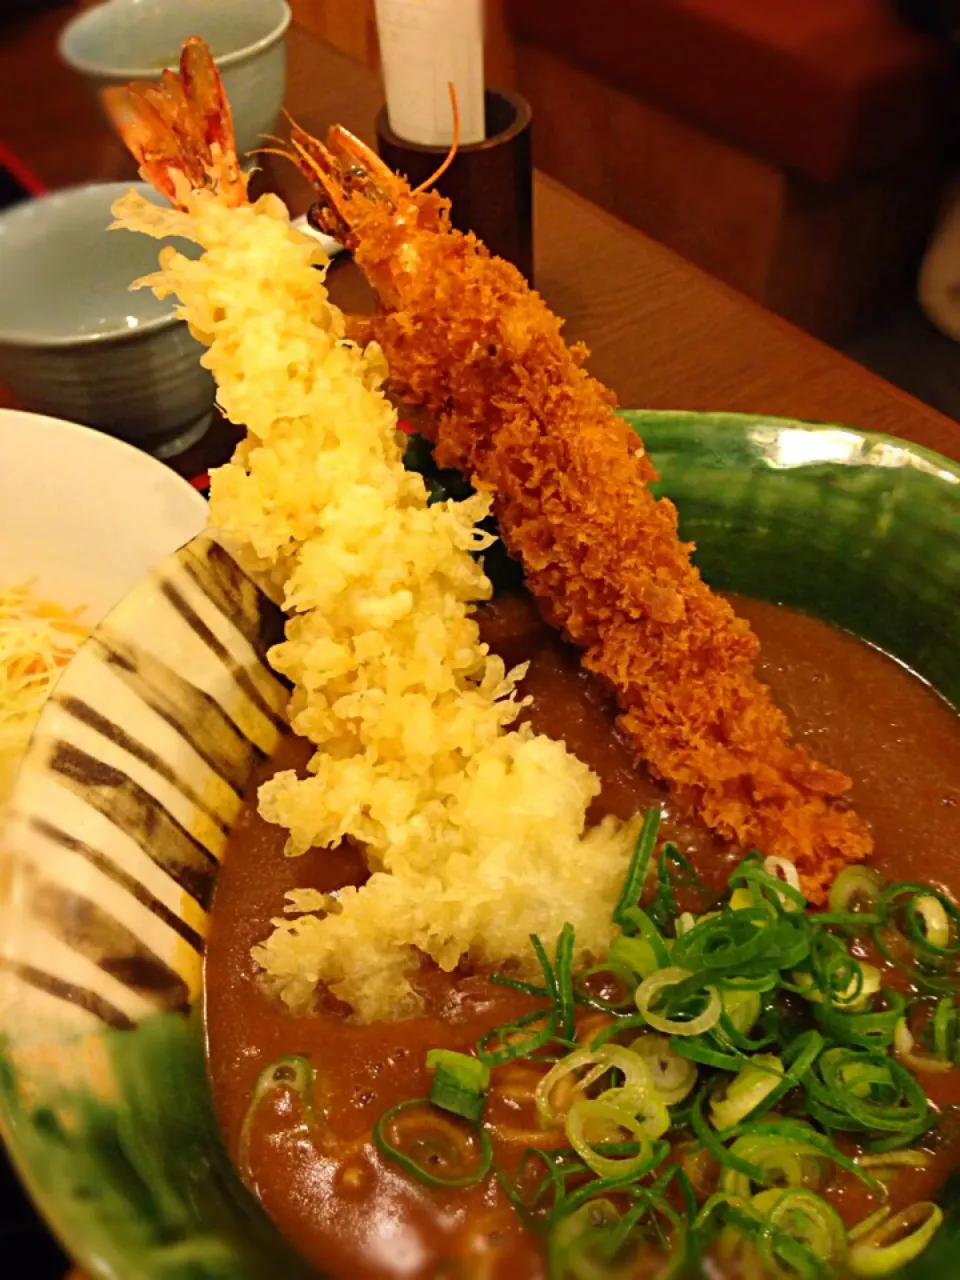
<svg viewBox="0 0 960 1280">
<path fill-rule="evenodd" d="M 465 955 L 522 963 L 531 932 L 552 943 L 568 924 L 579 959 L 602 956 L 639 823 L 588 827 L 596 776 L 563 742 L 509 728 L 524 671 L 504 669 L 472 616 L 492 591 L 471 554 L 492 540 L 476 527 L 489 495 L 430 503 L 404 470 L 380 352 L 344 339 L 317 271 L 325 255 L 276 197 L 251 205 L 232 179 L 216 72 L 196 46 L 189 56 L 215 146 L 182 165 L 195 131 L 180 128 L 179 88 L 160 115 L 156 95 L 145 113 L 132 91 L 123 120 L 143 127 L 132 136 L 147 172 L 179 207 L 129 192 L 114 212 L 205 251 L 191 261 L 164 248 L 138 283 L 177 294 L 220 407 L 247 429 L 211 477 L 211 520 L 283 602 L 285 637 L 269 658 L 293 685 L 292 727 L 315 748 L 306 777 L 264 783 L 260 812 L 288 829 L 291 855 L 349 838 L 371 873 L 337 895 L 291 893 L 253 957 L 292 1009 L 325 983 L 372 1020 L 417 1007 L 420 954 L 447 970 Z"/>
</svg>

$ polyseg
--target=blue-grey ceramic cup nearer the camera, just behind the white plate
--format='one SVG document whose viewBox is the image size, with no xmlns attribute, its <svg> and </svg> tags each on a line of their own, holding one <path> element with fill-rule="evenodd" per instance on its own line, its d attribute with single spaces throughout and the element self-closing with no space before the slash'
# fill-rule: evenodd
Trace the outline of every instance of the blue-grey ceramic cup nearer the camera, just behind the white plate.
<svg viewBox="0 0 960 1280">
<path fill-rule="evenodd" d="M 159 457 L 200 439 L 214 381 L 173 300 L 129 291 L 163 243 L 108 230 L 110 205 L 143 183 L 96 183 L 0 215 L 0 381 L 24 408 L 96 426 Z"/>
</svg>

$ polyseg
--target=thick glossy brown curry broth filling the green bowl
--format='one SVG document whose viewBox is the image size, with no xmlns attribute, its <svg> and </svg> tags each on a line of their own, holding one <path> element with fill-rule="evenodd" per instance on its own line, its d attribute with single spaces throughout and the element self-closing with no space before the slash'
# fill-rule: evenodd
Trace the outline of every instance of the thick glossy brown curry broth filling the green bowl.
<svg viewBox="0 0 960 1280">
<path fill-rule="evenodd" d="M 960 884 L 957 717 L 919 680 L 861 641 L 788 609 L 748 599 L 735 603 L 760 637 L 762 676 L 797 737 L 854 777 L 852 800 L 877 840 L 874 865 L 891 878 Z M 509 663 L 531 659 L 524 684 L 534 699 L 529 717 L 538 731 L 563 737 L 602 778 L 594 815 L 626 818 L 660 805 L 663 835 L 701 874 L 722 883 L 739 851 L 712 837 L 637 768 L 612 730 L 599 684 L 539 622 L 529 602 L 498 602 L 483 611 L 483 628 Z M 303 767 L 307 754 L 302 742 L 285 740 L 257 782 L 275 768 Z M 530 1002 L 492 987 L 468 966 L 445 975 L 425 965 L 417 979 L 425 1001 L 419 1018 L 355 1027 L 329 1000 L 312 1016 L 283 1012 L 260 991 L 250 948 L 282 913 L 287 890 L 333 890 L 361 882 L 365 873 L 348 849 L 285 859 L 283 832 L 259 818 L 253 796 L 251 788 L 224 859 L 206 961 L 210 1071 L 230 1151 L 237 1153 L 257 1073 L 282 1055 L 303 1053 L 316 1068 L 317 1101 L 328 1107 L 324 1149 L 298 1130 L 298 1103 L 282 1096 L 260 1107 L 250 1155 L 257 1194 L 307 1258 L 337 1277 L 436 1280 L 474 1275 L 467 1260 L 480 1263 L 485 1257 L 493 1270 L 477 1275 L 536 1280 L 545 1274 L 539 1242 L 520 1229 L 495 1185 L 428 1192 L 383 1161 L 369 1140 L 383 1111 L 426 1092 L 429 1048 L 468 1050 Z M 960 1071 L 925 1075 L 923 1083 L 936 1103 L 960 1102 Z M 512 1111 L 503 1101 L 492 1105 L 488 1117 L 535 1130 L 529 1108 Z M 524 1144 L 497 1144 L 499 1158 L 511 1165 Z M 931 1169 L 897 1175 L 895 1203 L 929 1194 L 959 1161 L 957 1143 L 941 1142 Z M 850 1222 L 874 1207 L 852 1179 L 840 1179 L 829 1194 Z"/>
</svg>

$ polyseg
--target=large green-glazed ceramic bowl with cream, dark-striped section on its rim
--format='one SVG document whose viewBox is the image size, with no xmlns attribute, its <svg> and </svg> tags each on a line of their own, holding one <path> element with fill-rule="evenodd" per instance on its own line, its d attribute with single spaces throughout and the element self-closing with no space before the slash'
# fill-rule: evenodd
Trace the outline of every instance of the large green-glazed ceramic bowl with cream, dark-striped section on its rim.
<svg viewBox="0 0 960 1280">
<path fill-rule="evenodd" d="M 960 467 L 847 428 L 627 416 L 708 581 L 847 627 L 960 704 Z M 61 677 L 0 835 L 3 1134 L 92 1276 L 303 1274 L 223 1151 L 197 1009 L 218 863 L 283 727 L 279 623 L 189 543 Z M 945 1203 L 911 1276 L 960 1275 L 960 1185 Z"/>
</svg>

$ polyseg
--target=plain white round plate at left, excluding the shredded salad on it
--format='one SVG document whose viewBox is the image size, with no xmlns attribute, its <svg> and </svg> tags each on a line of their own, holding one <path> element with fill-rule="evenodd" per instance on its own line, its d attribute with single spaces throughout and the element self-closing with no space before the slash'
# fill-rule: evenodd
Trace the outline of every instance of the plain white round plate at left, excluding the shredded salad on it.
<svg viewBox="0 0 960 1280">
<path fill-rule="evenodd" d="M 0 585 L 36 579 L 96 623 L 205 524 L 200 494 L 140 449 L 0 410 Z"/>
</svg>

